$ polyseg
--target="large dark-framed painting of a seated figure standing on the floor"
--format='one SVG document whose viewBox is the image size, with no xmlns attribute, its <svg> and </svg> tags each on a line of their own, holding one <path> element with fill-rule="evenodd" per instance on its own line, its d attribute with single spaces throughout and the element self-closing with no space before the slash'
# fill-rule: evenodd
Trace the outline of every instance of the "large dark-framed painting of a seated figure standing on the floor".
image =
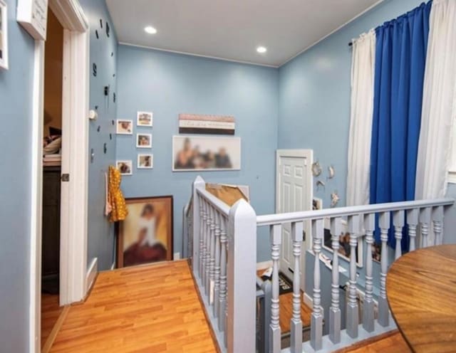
<svg viewBox="0 0 456 353">
<path fill-rule="evenodd" d="M 125 200 L 118 226 L 118 268 L 172 260 L 172 196 Z"/>
</svg>

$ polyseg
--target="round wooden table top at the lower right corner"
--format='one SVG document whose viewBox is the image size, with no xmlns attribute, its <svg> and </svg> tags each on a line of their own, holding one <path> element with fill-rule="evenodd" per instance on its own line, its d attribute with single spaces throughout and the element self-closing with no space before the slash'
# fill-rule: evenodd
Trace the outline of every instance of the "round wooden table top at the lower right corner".
<svg viewBox="0 0 456 353">
<path fill-rule="evenodd" d="M 456 352 L 456 245 L 400 257 L 388 271 L 386 295 L 414 352 Z"/>
</svg>

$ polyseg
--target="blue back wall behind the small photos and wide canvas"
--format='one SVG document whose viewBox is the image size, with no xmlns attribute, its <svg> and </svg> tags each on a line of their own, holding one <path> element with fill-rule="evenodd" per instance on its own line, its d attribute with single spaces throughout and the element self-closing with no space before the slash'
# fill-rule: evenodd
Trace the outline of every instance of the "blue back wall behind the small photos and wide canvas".
<svg viewBox="0 0 456 353">
<path fill-rule="evenodd" d="M 119 119 L 136 119 L 138 110 L 154 113 L 153 169 L 133 168 L 123 177 L 125 197 L 174 196 L 174 251 L 182 253 L 182 208 L 190 198 L 196 172 L 172 172 L 172 136 L 178 135 L 180 113 L 233 115 L 242 138 L 242 169 L 202 172 L 211 182 L 250 186 L 258 214 L 274 212 L 275 151 L 278 119 L 278 70 L 222 60 L 182 56 L 130 46 L 118 49 Z M 138 152 L 135 135 L 118 135 L 117 158 Z M 269 253 L 259 246 L 259 258 Z"/>
</svg>

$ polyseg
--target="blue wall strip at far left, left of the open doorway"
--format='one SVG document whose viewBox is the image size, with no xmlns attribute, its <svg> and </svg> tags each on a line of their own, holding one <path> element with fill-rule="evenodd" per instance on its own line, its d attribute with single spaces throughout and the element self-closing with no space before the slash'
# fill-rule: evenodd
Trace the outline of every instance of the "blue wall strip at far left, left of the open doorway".
<svg viewBox="0 0 456 353">
<path fill-rule="evenodd" d="M 34 41 L 8 1 L 9 70 L 0 69 L 0 351 L 28 349 Z"/>
</svg>

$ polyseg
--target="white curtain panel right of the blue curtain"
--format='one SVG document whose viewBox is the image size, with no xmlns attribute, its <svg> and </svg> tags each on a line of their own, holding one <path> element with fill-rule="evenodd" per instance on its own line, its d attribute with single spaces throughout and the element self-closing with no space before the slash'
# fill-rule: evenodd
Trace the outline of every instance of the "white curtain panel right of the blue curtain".
<svg viewBox="0 0 456 353">
<path fill-rule="evenodd" d="M 445 196 L 456 119 L 456 1 L 434 0 L 430 13 L 415 199 Z"/>
</svg>

